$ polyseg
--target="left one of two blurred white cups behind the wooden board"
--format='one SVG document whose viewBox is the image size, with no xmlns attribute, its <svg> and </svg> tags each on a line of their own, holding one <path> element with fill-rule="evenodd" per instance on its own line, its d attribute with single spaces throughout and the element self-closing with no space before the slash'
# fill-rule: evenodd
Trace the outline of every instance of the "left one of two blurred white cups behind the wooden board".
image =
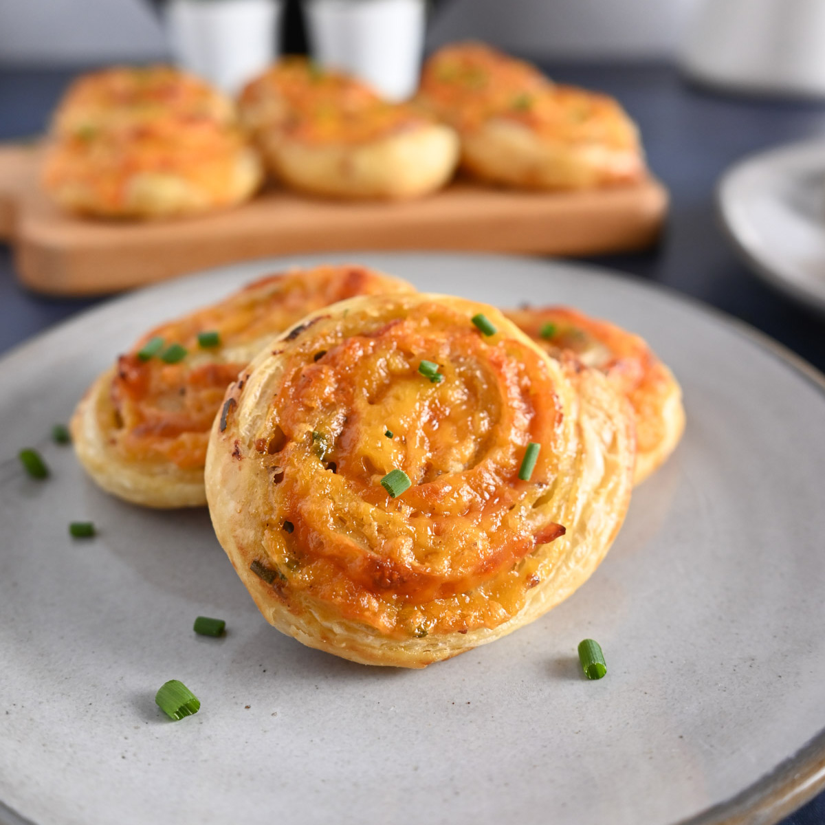
<svg viewBox="0 0 825 825">
<path fill-rule="evenodd" d="M 275 59 L 282 0 L 171 0 L 167 25 L 182 68 L 233 94 Z"/>
</svg>

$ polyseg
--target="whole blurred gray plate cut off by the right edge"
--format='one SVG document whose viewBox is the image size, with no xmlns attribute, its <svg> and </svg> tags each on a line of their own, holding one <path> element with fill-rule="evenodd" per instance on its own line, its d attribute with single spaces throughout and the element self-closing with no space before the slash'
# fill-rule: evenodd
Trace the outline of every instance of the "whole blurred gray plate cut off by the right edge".
<svg viewBox="0 0 825 825">
<path fill-rule="evenodd" d="M 825 140 L 745 158 L 724 175 L 717 199 L 757 275 L 825 313 Z"/>
</svg>

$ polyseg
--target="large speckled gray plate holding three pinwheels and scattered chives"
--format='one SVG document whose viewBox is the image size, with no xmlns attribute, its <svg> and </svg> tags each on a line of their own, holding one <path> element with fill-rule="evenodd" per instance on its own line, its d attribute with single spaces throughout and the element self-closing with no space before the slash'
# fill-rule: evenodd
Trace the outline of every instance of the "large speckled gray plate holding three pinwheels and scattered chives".
<svg viewBox="0 0 825 825">
<path fill-rule="evenodd" d="M 767 823 L 801 804 L 822 779 L 825 728 L 815 377 L 723 318 L 599 271 L 347 259 L 493 304 L 570 302 L 642 333 L 685 390 L 676 455 L 556 610 L 424 671 L 372 669 L 266 625 L 205 511 L 106 497 L 48 438 L 148 325 L 285 262 L 158 286 L 46 333 L 0 364 L 0 820 Z M 45 483 L 18 467 L 31 444 L 54 470 Z M 100 535 L 70 540 L 79 519 Z M 196 615 L 228 634 L 196 637 Z M 605 650 L 601 681 L 579 672 L 585 637 Z M 170 678 L 199 714 L 162 716 L 153 697 Z"/>
</svg>

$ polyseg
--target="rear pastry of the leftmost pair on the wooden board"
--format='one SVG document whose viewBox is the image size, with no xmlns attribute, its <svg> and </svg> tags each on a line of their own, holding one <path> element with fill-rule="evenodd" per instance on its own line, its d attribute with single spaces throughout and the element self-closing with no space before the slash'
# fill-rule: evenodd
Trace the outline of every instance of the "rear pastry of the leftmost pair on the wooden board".
<svg viewBox="0 0 825 825">
<path fill-rule="evenodd" d="M 54 135 L 87 137 L 153 120 L 236 121 L 229 97 L 171 66 L 115 66 L 82 75 L 68 87 L 51 120 Z"/>
</svg>

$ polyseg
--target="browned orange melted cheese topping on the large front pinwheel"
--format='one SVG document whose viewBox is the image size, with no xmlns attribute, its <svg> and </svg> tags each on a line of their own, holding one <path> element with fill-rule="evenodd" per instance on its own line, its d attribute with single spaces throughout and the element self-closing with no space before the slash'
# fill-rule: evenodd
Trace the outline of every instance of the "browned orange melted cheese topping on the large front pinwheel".
<svg viewBox="0 0 825 825">
<path fill-rule="evenodd" d="M 266 375 L 262 354 L 230 388 L 216 435 L 260 530 L 233 562 L 290 610 L 401 639 L 466 633 L 511 619 L 539 583 L 535 550 L 564 533 L 542 503 L 573 442 L 559 374 L 494 310 L 487 337 L 450 301 L 316 315 L 275 343 Z M 412 483 L 398 497 L 381 484 L 393 469 Z"/>
</svg>

